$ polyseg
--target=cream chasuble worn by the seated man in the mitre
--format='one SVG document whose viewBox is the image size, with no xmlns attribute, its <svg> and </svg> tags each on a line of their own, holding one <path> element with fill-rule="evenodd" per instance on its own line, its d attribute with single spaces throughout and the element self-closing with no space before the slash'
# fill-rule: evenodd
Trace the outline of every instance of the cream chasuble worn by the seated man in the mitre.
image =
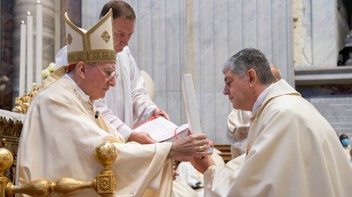
<svg viewBox="0 0 352 197">
<path fill-rule="evenodd" d="M 67 75 L 66 75 L 67 76 Z M 18 149 L 18 181 L 26 184 L 60 177 L 92 181 L 102 166 L 94 148 L 110 141 L 118 150 L 111 165 L 116 174 L 115 196 L 170 196 L 171 143 L 124 143 L 77 84 L 61 78 L 34 97 L 27 111 Z M 74 196 L 98 196 L 85 189 Z"/>
</svg>

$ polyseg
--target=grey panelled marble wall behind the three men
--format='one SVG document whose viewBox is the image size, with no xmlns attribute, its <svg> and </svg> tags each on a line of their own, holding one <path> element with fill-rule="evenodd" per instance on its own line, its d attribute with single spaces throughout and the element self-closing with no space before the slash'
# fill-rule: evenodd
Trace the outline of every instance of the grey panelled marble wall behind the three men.
<svg viewBox="0 0 352 197">
<path fill-rule="evenodd" d="M 106 1 L 82 1 L 82 25 L 97 19 Z M 155 102 L 173 122 L 187 122 L 181 76 L 194 79 L 201 126 L 217 144 L 227 143 L 232 107 L 222 64 L 246 47 L 258 48 L 294 85 L 292 4 L 289 0 L 127 0 L 137 14 L 130 50 L 151 75 Z"/>
</svg>

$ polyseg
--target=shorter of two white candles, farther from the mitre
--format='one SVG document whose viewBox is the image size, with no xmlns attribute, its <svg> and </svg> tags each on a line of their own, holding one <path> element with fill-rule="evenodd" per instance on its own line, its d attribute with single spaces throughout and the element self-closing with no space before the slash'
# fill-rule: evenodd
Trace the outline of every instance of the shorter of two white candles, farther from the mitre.
<svg viewBox="0 0 352 197">
<path fill-rule="evenodd" d="M 27 92 L 32 90 L 33 83 L 33 16 L 27 15 Z"/>
</svg>

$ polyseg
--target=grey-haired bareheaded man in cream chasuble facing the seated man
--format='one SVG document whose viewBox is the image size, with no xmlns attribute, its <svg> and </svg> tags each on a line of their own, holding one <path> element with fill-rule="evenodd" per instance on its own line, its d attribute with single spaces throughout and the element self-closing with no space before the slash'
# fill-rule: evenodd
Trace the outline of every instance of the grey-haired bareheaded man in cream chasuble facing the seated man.
<svg viewBox="0 0 352 197">
<path fill-rule="evenodd" d="M 222 72 L 223 94 L 251 111 L 251 126 L 246 154 L 224 167 L 192 157 L 204 196 L 351 196 L 352 168 L 334 129 L 287 82 L 275 82 L 263 53 L 243 49 Z"/>
</svg>

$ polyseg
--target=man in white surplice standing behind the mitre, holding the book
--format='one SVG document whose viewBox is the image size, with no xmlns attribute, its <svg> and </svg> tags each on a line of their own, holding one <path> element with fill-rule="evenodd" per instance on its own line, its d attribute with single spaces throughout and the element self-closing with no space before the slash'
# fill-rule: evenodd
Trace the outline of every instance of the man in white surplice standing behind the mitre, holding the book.
<svg viewBox="0 0 352 197">
<path fill-rule="evenodd" d="M 105 98 L 94 101 L 103 117 L 110 122 L 125 141 L 151 144 L 155 141 L 145 132 L 133 132 L 131 128 L 159 115 L 169 119 L 168 114 L 158 108 L 144 88 L 144 78 L 130 53 L 127 44 L 134 32 L 136 15 L 133 8 L 124 1 L 108 1 L 101 9 L 100 17 L 113 10 L 116 72 L 120 77 L 115 87 L 106 93 Z M 56 67 L 67 65 L 67 48 L 56 55 Z"/>
</svg>

